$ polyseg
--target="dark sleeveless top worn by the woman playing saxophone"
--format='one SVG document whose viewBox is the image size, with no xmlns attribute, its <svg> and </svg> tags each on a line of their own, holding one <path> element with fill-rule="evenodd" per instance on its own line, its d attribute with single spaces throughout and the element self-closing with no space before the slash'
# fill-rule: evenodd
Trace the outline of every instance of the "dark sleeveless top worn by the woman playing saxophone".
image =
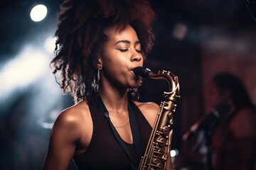
<svg viewBox="0 0 256 170">
<path fill-rule="evenodd" d="M 131 103 L 138 120 L 144 153 L 152 128 L 139 108 Z M 131 169 L 128 157 L 114 138 L 100 108 L 97 108 L 96 104 L 89 105 L 89 108 L 93 123 L 92 140 L 83 154 L 74 157 L 78 169 Z M 139 166 L 140 160 L 137 158 L 134 144 L 124 143 L 127 145 L 134 166 Z"/>
</svg>

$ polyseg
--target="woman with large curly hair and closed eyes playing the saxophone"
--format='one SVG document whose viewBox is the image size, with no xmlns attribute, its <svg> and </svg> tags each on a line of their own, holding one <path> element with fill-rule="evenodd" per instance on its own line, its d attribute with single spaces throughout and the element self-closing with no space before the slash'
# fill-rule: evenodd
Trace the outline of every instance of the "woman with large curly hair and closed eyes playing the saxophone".
<svg viewBox="0 0 256 170">
<path fill-rule="evenodd" d="M 159 109 L 131 101 L 141 84 L 133 69 L 143 65 L 154 43 L 154 12 L 137 0 L 68 0 L 60 7 L 51 63 L 75 105 L 55 120 L 43 169 L 68 169 L 72 159 L 78 169 L 135 169 Z M 134 144 L 133 113 L 142 147 Z"/>
</svg>

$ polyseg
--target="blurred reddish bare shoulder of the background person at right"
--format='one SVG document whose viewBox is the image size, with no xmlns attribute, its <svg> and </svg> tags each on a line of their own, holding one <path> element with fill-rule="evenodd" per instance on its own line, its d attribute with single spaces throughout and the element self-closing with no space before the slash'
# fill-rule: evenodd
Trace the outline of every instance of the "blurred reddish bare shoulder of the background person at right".
<svg viewBox="0 0 256 170">
<path fill-rule="evenodd" d="M 256 113 L 250 108 L 242 108 L 230 123 L 235 137 L 256 137 Z"/>
</svg>

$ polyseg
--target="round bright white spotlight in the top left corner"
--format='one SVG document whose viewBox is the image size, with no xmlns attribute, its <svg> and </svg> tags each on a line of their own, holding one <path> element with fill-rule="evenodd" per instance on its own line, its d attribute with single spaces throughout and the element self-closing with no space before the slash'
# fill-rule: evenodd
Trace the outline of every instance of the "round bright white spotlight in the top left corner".
<svg viewBox="0 0 256 170">
<path fill-rule="evenodd" d="M 40 4 L 40 5 L 36 5 L 32 8 L 31 10 L 31 20 L 38 22 L 38 21 L 42 21 L 43 18 L 46 17 L 47 14 L 47 8 L 46 6 Z"/>
</svg>

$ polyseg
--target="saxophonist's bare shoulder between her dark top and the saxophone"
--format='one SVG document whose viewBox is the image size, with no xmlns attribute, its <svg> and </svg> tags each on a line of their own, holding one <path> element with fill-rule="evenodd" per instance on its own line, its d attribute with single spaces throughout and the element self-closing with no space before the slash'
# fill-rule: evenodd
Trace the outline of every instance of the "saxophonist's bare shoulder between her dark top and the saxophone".
<svg viewBox="0 0 256 170">
<path fill-rule="evenodd" d="M 142 111 L 144 117 L 149 122 L 151 127 L 154 125 L 154 121 L 156 120 L 156 115 L 159 111 L 159 105 L 154 102 L 142 103 L 135 101 L 134 102 L 140 111 Z"/>
</svg>

